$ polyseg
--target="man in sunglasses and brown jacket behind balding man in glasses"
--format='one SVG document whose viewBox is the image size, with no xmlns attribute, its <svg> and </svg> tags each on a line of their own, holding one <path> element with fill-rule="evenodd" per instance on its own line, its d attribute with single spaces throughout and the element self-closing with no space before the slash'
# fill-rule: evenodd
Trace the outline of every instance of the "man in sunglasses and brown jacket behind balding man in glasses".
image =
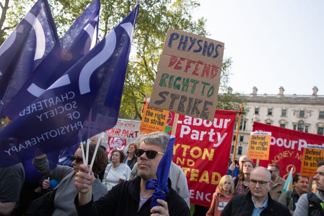
<svg viewBox="0 0 324 216">
<path fill-rule="evenodd" d="M 279 175 L 279 166 L 277 164 L 269 164 L 268 165 L 268 170 L 270 171 L 271 174 L 271 182 L 272 182 L 272 187 L 270 190 L 270 196 L 272 199 L 275 201 L 278 201 L 282 188 L 285 186 L 285 180 L 282 179 Z"/>
</svg>

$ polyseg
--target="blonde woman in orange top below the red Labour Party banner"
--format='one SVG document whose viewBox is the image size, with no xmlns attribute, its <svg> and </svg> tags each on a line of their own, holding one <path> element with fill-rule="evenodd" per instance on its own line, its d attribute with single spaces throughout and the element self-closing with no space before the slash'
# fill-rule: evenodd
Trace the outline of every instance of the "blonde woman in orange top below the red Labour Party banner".
<svg viewBox="0 0 324 216">
<path fill-rule="evenodd" d="M 229 200 L 234 196 L 234 182 L 231 176 L 225 175 L 219 181 L 211 207 L 206 213 L 206 216 L 220 216 L 224 207 Z"/>
</svg>

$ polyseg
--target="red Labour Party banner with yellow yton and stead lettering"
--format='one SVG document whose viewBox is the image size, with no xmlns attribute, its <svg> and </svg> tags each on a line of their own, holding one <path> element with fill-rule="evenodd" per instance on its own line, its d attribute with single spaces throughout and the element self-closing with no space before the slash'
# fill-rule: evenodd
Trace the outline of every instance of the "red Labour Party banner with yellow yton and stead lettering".
<svg viewBox="0 0 324 216">
<path fill-rule="evenodd" d="M 187 177 L 190 203 L 210 206 L 227 172 L 236 113 L 216 110 L 213 122 L 179 115 L 173 161 Z"/>
</svg>

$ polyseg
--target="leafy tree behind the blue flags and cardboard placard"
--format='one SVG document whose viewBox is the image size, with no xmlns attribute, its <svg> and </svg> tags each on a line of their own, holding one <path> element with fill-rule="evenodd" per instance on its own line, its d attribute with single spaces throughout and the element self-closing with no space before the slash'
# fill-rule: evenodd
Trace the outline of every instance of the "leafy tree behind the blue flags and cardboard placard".
<svg viewBox="0 0 324 216">
<path fill-rule="evenodd" d="M 26 1 L 28 0 L 19 0 L 19 2 L 18 0 L 6 0 L 6 3 L 10 2 L 10 10 L 7 8 L 9 12 L 7 12 L 6 22 L 0 23 L 0 27 L 4 26 L 1 28 L 3 31 L 12 29 L 22 19 L 21 14 L 26 13 L 26 8 L 28 8 Z M 25 4 L 22 5 L 21 2 Z M 30 4 L 30 1 L 28 2 Z M 92 0 L 49 0 L 59 37 L 91 2 Z M 134 9 L 135 4 L 136 1 L 129 0 L 101 0 L 99 38 L 103 38 L 121 19 L 126 17 Z M 157 63 L 168 28 L 201 36 L 208 35 L 205 30 L 206 20 L 199 18 L 194 21 L 191 16 L 192 11 L 197 7 L 199 4 L 195 0 L 145 0 L 142 2 L 133 36 L 119 112 L 120 118 L 141 119 L 142 105 L 139 102 L 143 101 L 147 94 L 150 96 L 152 92 Z M 19 13 L 13 13 L 15 10 Z M 0 39 L 5 38 L 8 35 L 8 32 L 6 33 L 1 34 L 0 31 Z M 230 65 L 231 59 L 225 59 L 220 89 L 226 89 Z M 218 107 L 230 108 L 235 104 L 231 102 L 231 97 L 220 97 Z M 223 106 L 222 101 L 225 101 L 226 105 Z"/>
</svg>

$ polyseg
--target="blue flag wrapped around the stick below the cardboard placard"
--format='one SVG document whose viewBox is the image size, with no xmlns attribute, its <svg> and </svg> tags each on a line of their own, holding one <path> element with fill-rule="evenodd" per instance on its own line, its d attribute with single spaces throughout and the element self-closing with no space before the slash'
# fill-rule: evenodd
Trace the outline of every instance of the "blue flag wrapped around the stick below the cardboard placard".
<svg viewBox="0 0 324 216">
<path fill-rule="evenodd" d="M 173 157 L 173 145 L 176 138 L 175 136 L 171 136 L 168 148 L 166 153 L 163 155 L 161 161 L 159 162 L 156 170 L 156 179 L 150 179 L 146 182 L 145 189 L 146 190 L 154 190 L 152 198 L 151 198 L 151 208 L 153 206 L 161 205 L 156 202 L 156 199 L 166 200 L 166 193 L 169 193 L 168 188 L 168 177 L 171 166 L 171 161 Z"/>
</svg>

